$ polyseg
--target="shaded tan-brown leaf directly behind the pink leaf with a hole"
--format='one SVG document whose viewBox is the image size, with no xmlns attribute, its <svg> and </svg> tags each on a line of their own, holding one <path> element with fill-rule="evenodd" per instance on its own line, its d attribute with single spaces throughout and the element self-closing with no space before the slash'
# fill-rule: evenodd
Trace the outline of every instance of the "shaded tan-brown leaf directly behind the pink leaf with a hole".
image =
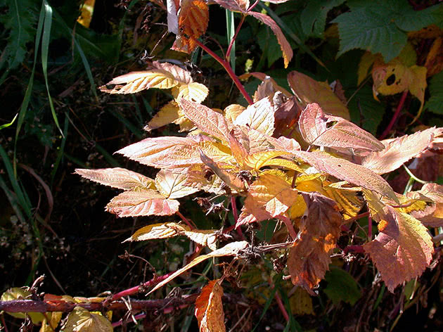
<svg viewBox="0 0 443 332">
<path fill-rule="evenodd" d="M 349 110 L 327 83 L 317 82 L 315 79 L 296 71 L 289 73 L 288 83 L 295 96 L 300 99 L 302 108 L 305 108 L 309 103 L 319 103 L 326 113 L 349 120 Z"/>
</svg>

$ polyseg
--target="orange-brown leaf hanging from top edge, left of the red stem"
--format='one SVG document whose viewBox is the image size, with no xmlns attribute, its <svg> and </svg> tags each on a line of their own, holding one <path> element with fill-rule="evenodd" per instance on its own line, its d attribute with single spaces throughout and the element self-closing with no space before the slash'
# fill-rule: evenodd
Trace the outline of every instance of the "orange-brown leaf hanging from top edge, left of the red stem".
<svg viewBox="0 0 443 332">
<path fill-rule="evenodd" d="M 181 0 L 179 11 L 179 35 L 172 46 L 175 51 L 191 53 L 195 40 L 206 32 L 209 9 L 202 0 Z"/>
</svg>

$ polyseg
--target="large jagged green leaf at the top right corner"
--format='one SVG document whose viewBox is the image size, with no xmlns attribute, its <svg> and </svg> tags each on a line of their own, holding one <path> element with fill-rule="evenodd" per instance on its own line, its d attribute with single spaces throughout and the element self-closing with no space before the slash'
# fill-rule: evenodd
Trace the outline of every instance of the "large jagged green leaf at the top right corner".
<svg viewBox="0 0 443 332">
<path fill-rule="evenodd" d="M 438 5 L 414 11 L 406 0 L 354 0 L 348 6 L 350 12 L 333 20 L 340 33 L 338 56 L 350 49 L 366 49 L 381 53 L 386 63 L 406 45 L 406 32 L 439 23 L 442 10 Z"/>
</svg>

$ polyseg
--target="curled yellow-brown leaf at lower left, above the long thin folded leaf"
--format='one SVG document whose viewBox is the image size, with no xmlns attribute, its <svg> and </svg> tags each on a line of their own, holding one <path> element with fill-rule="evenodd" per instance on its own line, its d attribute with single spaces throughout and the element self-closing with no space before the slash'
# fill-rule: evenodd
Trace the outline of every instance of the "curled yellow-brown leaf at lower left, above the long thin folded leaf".
<svg viewBox="0 0 443 332">
<path fill-rule="evenodd" d="M 191 229 L 184 224 L 176 224 L 175 222 L 163 222 L 160 224 L 151 224 L 138 229 L 127 241 L 148 241 L 158 238 L 172 238 L 174 236 L 186 236 L 191 241 L 203 246 L 207 246 L 211 250 L 217 249 L 217 236 L 212 229 Z"/>
</svg>

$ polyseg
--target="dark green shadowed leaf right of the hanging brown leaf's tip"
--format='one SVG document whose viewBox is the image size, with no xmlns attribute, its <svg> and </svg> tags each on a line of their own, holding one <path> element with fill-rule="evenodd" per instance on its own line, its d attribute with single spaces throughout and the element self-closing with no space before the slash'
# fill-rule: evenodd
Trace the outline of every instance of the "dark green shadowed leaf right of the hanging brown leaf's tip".
<svg viewBox="0 0 443 332">
<path fill-rule="evenodd" d="M 328 282 L 328 286 L 323 291 L 334 305 L 338 305 L 340 301 L 354 305 L 361 298 L 357 281 L 346 271 L 338 267 L 331 267 L 330 271 L 326 273 L 325 280 Z"/>
</svg>

